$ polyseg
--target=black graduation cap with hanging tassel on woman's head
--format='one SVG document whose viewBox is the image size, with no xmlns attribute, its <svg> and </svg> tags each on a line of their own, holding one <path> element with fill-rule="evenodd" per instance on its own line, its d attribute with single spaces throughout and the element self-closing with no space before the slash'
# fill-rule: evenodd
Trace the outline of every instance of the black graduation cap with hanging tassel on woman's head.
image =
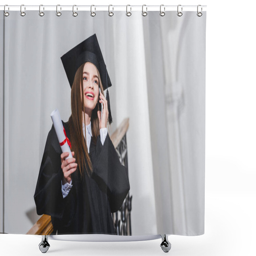
<svg viewBox="0 0 256 256">
<path fill-rule="evenodd" d="M 77 44 L 74 48 L 65 53 L 60 59 L 67 74 L 70 87 L 72 87 L 76 70 L 83 63 L 91 62 L 98 68 L 103 90 L 107 89 L 106 100 L 108 101 L 108 123 L 111 124 L 112 116 L 109 103 L 108 87 L 110 87 L 112 84 L 108 76 L 108 71 L 96 34 L 88 37 L 82 43 Z"/>
</svg>

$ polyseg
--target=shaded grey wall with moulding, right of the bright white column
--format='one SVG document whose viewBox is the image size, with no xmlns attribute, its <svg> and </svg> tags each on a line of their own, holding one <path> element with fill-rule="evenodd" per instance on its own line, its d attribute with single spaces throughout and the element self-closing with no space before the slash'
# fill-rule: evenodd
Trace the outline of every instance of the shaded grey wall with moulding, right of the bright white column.
<svg viewBox="0 0 256 256">
<path fill-rule="evenodd" d="M 158 233 L 204 233 L 205 24 L 194 14 L 144 22 Z"/>
</svg>

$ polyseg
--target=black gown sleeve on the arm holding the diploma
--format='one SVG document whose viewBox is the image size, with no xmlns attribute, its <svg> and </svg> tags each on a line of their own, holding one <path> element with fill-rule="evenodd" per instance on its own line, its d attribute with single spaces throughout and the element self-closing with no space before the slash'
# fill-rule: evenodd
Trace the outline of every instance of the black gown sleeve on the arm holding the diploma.
<svg viewBox="0 0 256 256">
<path fill-rule="evenodd" d="M 48 214 L 57 219 L 62 217 L 64 211 L 60 154 L 59 141 L 52 125 L 44 148 L 34 199 L 38 215 Z"/>
</svg>

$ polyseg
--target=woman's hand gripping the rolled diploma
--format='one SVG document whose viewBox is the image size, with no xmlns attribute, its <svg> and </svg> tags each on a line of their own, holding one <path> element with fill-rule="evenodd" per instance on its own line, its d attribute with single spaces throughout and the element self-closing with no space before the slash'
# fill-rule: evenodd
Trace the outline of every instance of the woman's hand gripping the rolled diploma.
<svg viewBox="0 0 256 256">
<path fill-rule="evenodd" d="M 72 156 L 75 155 L 74 151 L 71 152 Z M 62 184 L 64 185 L 66 182 L 70 183 L 71 181 L 71 173 L 76 171 L 77 164 L 75 163 L 76 158 L 67 158 L 69 155 L 68 152 L 64 152 L 60 155 L 61 158 L 61 169 L 63 172 Z M 65 159 L 66 158 L 66 159 Z"/>
</svg>

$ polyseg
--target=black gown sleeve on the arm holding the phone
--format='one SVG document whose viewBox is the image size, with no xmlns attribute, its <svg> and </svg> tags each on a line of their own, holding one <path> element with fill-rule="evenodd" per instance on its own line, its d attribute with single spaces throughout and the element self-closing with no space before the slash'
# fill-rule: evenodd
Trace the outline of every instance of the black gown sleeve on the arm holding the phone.
<svg viewBox="0 0 256 256">
<path fill-rule="evenodd" d="M 95 153 L 92 178 L 107 193 L 111 212 L 117 212 L 130 190 L 128 171 L 120 163 L 108 134 L 103 145 L 98 136 Z"/>
</svg>

